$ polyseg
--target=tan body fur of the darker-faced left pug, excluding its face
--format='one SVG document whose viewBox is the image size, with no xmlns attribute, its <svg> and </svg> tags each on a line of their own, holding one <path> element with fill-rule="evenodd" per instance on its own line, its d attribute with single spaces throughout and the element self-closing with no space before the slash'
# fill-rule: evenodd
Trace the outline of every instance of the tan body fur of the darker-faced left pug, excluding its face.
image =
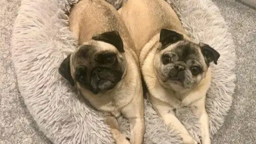
<svg viewBox="0 0 256 144">
<path fill-rule="evenodd" d="M 118 12 L 110 4 L 100 0 L 83 0 L 74 6 L 69 15 L 70 30 L 73 31 L 78 44 L 86 44 L 92 41 L 94 35 L 107 31 L 117 30 L 124 43 L 124 55 L 126 68 L 122 80 L 111 90 L 94 95 L 75 82 L 79 92 L 91 103 L 91 105 L 105 113 L 106 123 L 110 126 L 116 143 L 142 143 L 145 133 L 144 103 L 139 70 L 139 60 L 135 53 L 132 38 Z M 114 51 L 117 49 L 105 42 L 98 42 L 99 51 Z M 74 53 L 71 54 L 71 75 L 74 79 L 75 67 Z M 127 141 L 118 131 L 116 118 L 123 114 L 129 119 L 131 127 L 131 140 Z"/>
</svg>

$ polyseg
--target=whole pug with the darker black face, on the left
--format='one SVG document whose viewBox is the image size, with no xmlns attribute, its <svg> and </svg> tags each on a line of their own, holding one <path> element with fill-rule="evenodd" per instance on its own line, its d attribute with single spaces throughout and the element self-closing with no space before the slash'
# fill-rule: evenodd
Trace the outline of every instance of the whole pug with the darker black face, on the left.
<svg viewBox="0 0 256 144">
<path fill-rule="evenodd" d="M 101 0 L 82 0 L 69 15 L 78 49 L 59 73 L 95 109 L 106 116 L 116 143 L 142 143 L 144 103 L 134 42 L 115 8 Z M 118 130 L 116 117 L 129 119 L 131 138 Z"/>
</svg>

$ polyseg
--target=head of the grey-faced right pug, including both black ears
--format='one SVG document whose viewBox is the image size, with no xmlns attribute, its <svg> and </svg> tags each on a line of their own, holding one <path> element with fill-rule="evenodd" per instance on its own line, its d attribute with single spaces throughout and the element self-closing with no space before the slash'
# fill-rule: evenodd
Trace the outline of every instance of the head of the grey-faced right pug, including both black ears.
<svg viewBox="0 0 256 144">
<path fill-rule="evenodd" d="M 162 29 L 161 47 L 156 52 L 154 68 L 159 82 L 173 90 L 191 89 L 204 78 L 210 62 L 220 54 L 203 43 L 187 41 L 175 31 Z"/>
</svg>

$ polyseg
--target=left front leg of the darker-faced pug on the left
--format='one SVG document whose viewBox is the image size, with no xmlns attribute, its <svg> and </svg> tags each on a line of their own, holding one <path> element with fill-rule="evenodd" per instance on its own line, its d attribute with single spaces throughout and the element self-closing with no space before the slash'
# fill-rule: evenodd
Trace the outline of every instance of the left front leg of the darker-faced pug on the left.
<svg viewBox="0 0 256 144">
<path fill-rule="evenodd" d="M 117 119 L 114 116 L 105 116 L 107 125 L 110 126 L 110 131 L 113 134 L 113 138 L 116 144 L 130 144 L 126 137 L 119 132 Z"/>
</svg>

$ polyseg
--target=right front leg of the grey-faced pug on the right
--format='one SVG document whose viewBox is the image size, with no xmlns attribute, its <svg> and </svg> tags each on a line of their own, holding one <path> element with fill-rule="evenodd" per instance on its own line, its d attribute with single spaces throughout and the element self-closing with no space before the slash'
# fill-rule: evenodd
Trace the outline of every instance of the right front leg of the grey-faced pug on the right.
<svg viewBox="0 0 256 144">
<path fill-rule="evenodd" d="M 210 144 L 210 131 L 209 131 L 209 117 L 205 110 L 205 98 L 202 98 L 192 104 L 193 113 L 199 117 L 199 122 L 201 124 L 200 130 L 202 135 L 202 144 Z"/>
</svg>

